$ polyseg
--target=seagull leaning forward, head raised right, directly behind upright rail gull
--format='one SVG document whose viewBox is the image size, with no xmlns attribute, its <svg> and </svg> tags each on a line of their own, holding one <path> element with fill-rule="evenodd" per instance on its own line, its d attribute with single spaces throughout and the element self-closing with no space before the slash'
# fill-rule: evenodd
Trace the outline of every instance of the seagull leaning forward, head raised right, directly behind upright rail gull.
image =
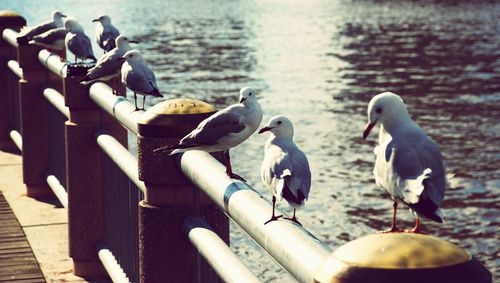
<svg viewBox="0 0 500 283">
<path fill-rule="evenodd" d="M 138 42 L 124 35 L 118 36 L 116 38 L 116 47 L 99 58 L 96 65 L 87 71 L 87 75 L 80 83 L 88 85 L 96 81 L 109 81 L 111 79 L 113 79 L 115 83 L 116 79 L 120 77 L 120 71 L 123 64 L 121 58 L 130 50 L 129 43 Z M 115 89 L 116 83 L 113 91 Z"/>
</svg>

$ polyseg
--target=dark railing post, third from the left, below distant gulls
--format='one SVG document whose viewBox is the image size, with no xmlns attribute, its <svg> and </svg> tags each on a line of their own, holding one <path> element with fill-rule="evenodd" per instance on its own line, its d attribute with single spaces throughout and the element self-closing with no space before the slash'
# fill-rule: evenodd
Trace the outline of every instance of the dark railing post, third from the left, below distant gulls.
<svg viewBox="0 0 500 283">
<path fill-rule="evenodd" d="M 76 275 L 105 276 L 96 249 L 104 234 L 101 155 L 94 137 L 100 113 L 80 85 L 82 78 L 68 75 L 63 81 L 70 110 L 65 124 L 69 255 Z"/>
</svg>

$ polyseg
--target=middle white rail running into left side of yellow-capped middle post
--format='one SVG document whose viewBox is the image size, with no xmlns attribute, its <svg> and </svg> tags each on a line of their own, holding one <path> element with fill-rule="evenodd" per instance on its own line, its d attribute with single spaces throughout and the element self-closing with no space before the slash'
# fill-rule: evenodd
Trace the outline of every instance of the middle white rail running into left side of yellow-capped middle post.
<svg viewBox="0 0 500 283">
<path fill-rule="evenodd" d="M 107 134 L 98 134 L 97 144 L 113 160 L 120 170 L 134 182 L 143 193 L 146 192 L 146 185 L 139 180 L 139 169 L 137 158 L 135 158 L 119 141 Z"/>
</svg>

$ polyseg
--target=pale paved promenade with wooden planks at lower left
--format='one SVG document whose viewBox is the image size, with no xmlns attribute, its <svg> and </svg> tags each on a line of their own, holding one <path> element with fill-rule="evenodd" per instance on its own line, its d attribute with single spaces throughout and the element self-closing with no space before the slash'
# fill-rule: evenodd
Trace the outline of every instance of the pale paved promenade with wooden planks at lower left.
<svg viewBox="0 0 500 283">
<path fill-rule="evenodd" d="M 0 200 L 2 219 L 9 217 L 5 211 L 12 209 L 24 234 L 17 233 L 16 246 L 12 254 L 22 252 L 24 261 L 7 265 L 3 259 L 5 250 L 0 236 L 0 282 L 107 282 L 104 280 L 84 279 L 73 274 L 73 263 L 68 256 L 67 210 L 55 197 L 34 199 L 26 196 L 26 186 L 22 181 L 22 159 L 19 153 L 0 151 L 0 193 L 7 203 Z M 0 196 L 1 197 L 1 196 Z M 11 222 L 12 215 L 10 216 Z M 0 219 L 0 220 L 2 220 Z M 12 230 L 9 225 L 9 230 Z M 6 231 L 3 227 L 1 231 Z M 27 239 L 38 262 L 39 271 L 34 270 L 36 262 L 31 261 Z M 6 237 L 4 238 L 6 239 Z M 7 255 L 6 255 L 7 256 Z M 14 261 L 13 255 L 8 255 Z M 8 266 L 8 267 L 7 267 Z M 15 276 L 15 277 L 7 277 Z M 43 281 L 45 278 L 45 281 Z"/>
</svg>

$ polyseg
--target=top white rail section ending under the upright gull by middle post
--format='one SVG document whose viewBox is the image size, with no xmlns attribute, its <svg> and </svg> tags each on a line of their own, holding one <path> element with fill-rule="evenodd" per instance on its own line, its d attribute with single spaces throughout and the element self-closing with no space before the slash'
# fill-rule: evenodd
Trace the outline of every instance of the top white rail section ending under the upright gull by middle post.
<svg viewBox="0 0 500 283">
<path fill-rule="evenodd" d="M 135 107 L 123 96 L 113 95 L 113 89 L 104 83 L 95 83 L 90 87 L 90 99 L 116 118 L 120 124 L 137 134 L 137 120 L 142 112 L 134 111 Z"/>
</svg>

